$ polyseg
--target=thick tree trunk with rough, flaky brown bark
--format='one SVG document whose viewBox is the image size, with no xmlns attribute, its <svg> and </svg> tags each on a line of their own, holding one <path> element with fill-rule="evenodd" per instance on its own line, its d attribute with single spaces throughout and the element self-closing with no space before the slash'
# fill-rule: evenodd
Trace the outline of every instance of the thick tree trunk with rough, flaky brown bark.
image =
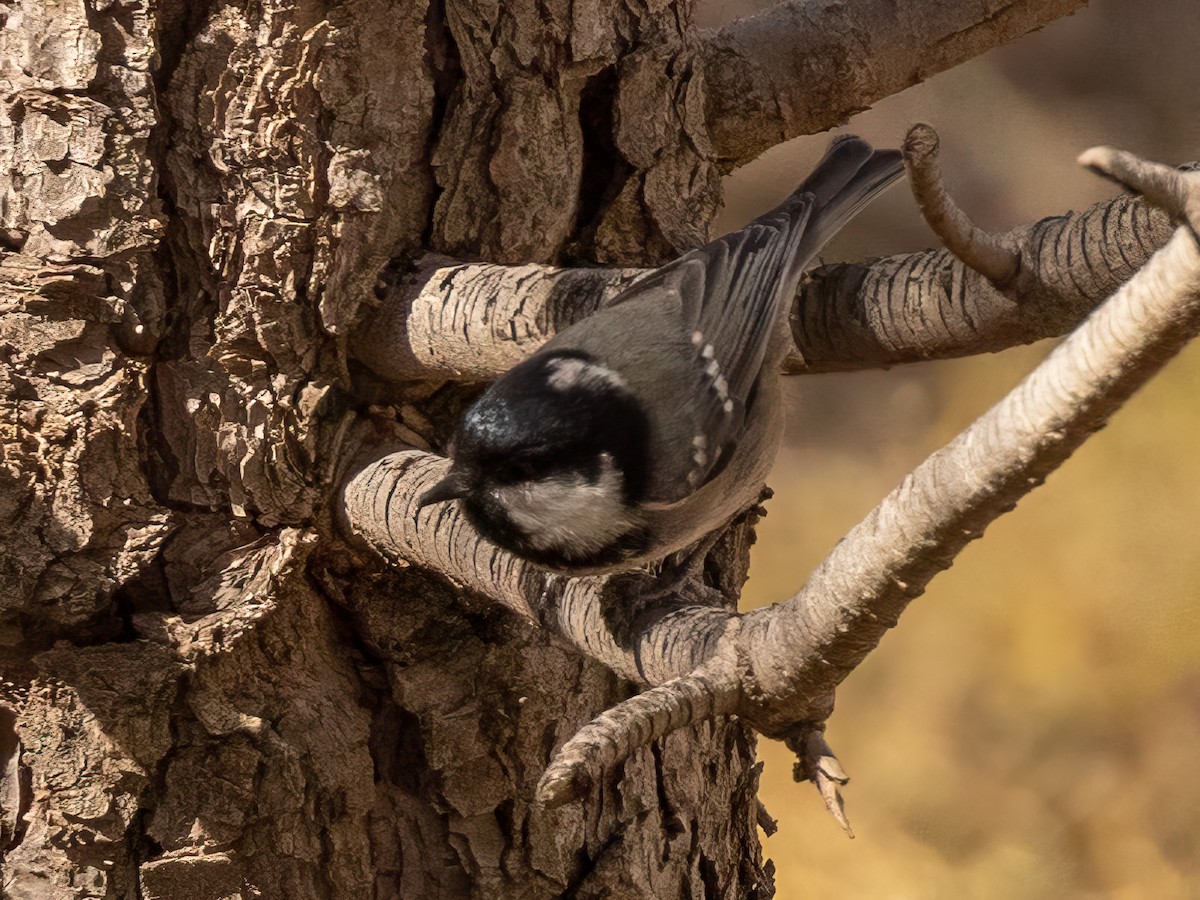
<svg viewBox="0 0 1200 900">
<path fill-rule="evenodd" d="M 582 804 L 551 751 L 630 685 L 338 539 L 389 259 L 660 262 L 720 202 L 674 5 L 0 7 L 5 898 L 769 896 L 719 720 Z M 720 550 L 733 596 L 749 527 Z"/>
</svg>

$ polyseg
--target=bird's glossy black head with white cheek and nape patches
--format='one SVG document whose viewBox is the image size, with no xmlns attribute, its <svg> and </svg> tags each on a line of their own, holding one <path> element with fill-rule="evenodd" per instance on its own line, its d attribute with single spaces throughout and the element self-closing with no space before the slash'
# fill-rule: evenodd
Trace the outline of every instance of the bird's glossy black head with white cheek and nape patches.
<svg viewBox="0 0 1200 900">
<path fill-rule="evenodd" d="M 649 425 L 624 379 L 587 354 L 512 368 L 463 416 L 450 455 L 421 505 L 461 498 L 472 524 L 517 556 L 582 571 L 644 545 Z"/>
</svg>

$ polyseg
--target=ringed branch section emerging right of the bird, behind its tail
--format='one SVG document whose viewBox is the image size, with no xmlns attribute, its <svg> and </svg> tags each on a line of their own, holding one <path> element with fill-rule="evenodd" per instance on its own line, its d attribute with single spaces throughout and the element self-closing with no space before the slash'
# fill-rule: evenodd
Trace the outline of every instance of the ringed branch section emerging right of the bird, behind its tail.
<svg viewBox="0 0 1200 900">
<path fill-rule="evenodd" d="M 886 367 L 1058 337 L 1145 265 L 1171 229 L 1166 215 L 1129 196 L 1015 228 L 992 238 L 1018 259 L 1003 288 L 947 250 L 818 269 L 792 307 L 797 354 L 787 371 Z"/>
</svg>

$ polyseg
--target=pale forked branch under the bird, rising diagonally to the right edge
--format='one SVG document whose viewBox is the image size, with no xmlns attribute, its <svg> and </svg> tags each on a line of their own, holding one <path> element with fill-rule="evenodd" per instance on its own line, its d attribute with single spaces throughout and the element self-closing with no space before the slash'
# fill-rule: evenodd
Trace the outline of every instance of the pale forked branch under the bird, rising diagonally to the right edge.
<svg viewBox="0 0 1200 900">
<path fill-rule="evenodd" d="M 697 716 L 728 712 L 782 738 L 840 812 L 845 781 L 820 732 L 835 686 L 967 542 L 1066 461 L 1200 330 L 1200 174 L 1110 150 L 1082 160 L 1145 186 L 1177 216 L 1166 246 L 1004 400 L 905 479 L 792 599 L 742 616 L 695 598 L 641 602 L 646 576 L 547 576 L 475 534 L 454 506 L 416 512 L 444 472 L 391 454 L 350 480 L 346 514 L 372 546 L 492 596 L 642 684 L 662 685 L 588 726 L 547 770 L 541 797 L 569 799 L 595 766 Z M 697 701 L 697 690 L 708 691 Z M 647 738 L 647 736 L 649 736 Z"/>
</svg>

